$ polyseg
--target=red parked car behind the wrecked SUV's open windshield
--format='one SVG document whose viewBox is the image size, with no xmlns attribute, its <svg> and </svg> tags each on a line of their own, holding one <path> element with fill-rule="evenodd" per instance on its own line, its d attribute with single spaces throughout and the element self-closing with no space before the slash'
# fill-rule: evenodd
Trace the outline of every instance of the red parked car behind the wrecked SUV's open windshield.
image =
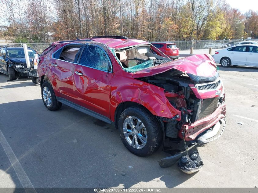
<svg viewBox="0 0 258 193">
<path fill-rule="evenodd" d="M 171 59 L 179 58 L 179 48 L 176 47 L 176 44 L 172 43 L 152 43 L 156 48 L 158 48 L 165 55 L 169 56 Z"/>
</svg>

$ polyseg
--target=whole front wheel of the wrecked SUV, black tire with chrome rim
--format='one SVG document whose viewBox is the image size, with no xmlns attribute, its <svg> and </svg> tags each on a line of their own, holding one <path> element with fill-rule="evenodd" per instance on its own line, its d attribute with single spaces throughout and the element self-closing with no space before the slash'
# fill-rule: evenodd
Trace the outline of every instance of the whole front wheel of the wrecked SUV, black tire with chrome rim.
<svg viewBox="0 0 258 193">
<path fill-rule="evenodd" d="M 123 144 L 135 155 L 151 155 L 162 143 L 158 120 L 141 106 L 125 109 L 119 118 L 118 128 Z"/>
</svg>

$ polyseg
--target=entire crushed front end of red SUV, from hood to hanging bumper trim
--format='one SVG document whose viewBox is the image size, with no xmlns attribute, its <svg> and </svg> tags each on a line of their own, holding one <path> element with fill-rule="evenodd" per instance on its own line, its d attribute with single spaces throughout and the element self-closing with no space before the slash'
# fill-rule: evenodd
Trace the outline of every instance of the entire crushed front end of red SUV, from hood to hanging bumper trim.
<svg viewBox="0 0 258 193">
<path fill-rule="evenodd" d="M 180 112 L 170 118 L 157 117 L 163 125 L 164 143 L 166 139 L 174 143 L 184 141 L 183 150 L 159 161 L 161 167 L 168 167 L 195 145 L 221 136 L 226 125 L 225 93 L 210 55 L 190 56 L 157 69 L 149 70 L 149 76 L 140 80 L 164 88 L 170 108 Z"/>
</svg>

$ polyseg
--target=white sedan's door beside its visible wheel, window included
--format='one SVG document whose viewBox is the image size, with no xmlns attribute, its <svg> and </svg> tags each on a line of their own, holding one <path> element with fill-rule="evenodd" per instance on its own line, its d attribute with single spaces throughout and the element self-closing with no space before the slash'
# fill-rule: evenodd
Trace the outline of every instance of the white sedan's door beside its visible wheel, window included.
<svg viewBox="0 0 258 193">
<path fill-rule="evenodd" d="M 246 65 L 246 46 L 237 46 L 231 49 L 229 56 L 232 64 Z"/>
</svg>

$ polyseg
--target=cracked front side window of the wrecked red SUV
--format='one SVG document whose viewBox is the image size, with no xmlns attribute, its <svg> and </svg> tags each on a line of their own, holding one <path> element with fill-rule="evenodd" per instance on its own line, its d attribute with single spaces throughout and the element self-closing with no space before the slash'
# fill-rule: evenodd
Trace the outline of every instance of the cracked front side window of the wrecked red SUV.
<svg viewBox="0 0 258 193">
<path fill-rule="evenodd" d="M 106 71 L 111 66 L 106 53 L 100 47 L 93 45 L 85 45 L 79 63 L 84 66 Z"/>
</svg>

